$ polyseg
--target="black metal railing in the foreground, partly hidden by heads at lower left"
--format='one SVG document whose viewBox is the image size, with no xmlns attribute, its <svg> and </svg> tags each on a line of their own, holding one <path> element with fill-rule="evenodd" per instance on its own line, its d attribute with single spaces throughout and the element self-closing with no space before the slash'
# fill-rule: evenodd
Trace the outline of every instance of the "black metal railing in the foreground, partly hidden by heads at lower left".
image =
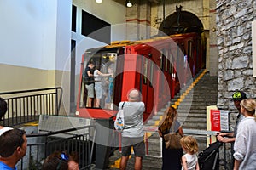
<svg viewBox="0 0 256 170">
<path fill-rule="evenodd" d="M 90 169 L 96 138 L 95 126 L 76 127 L 53 133 L 26 134 L 26 156 L 17 164 L 20 170 L 41 169 L 44 159 L 54 151 L 75 153 L 79 158 L 79 169 Z"/>
</svg>

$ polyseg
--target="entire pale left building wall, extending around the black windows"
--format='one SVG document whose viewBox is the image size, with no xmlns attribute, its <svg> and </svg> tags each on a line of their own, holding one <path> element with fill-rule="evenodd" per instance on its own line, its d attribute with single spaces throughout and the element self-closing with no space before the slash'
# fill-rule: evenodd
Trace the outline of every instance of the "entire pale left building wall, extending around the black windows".
<svg viewBox="0 0 256 170">
<path fill-rule="evenodd" d="M 40 3 L 33 3 L 26 0 L 20 3 L 22 5 L 17 4 L 17 7 L 15 7 L 15 3 L 8 2 L 1 3 L 4 8 L 7 8 L 2 10 L 1 14 L 3 11 L 12 12 L 14 8 L 19 10 L 11 14 L 3 13 L 4 19 L 9 20 L 9 22 L 0 29 L 1 32 L 7 32 L 6 41 L 1 46 L 3 47 L 2 51 L 6 53 L 3 53 L 0 58 L 0 77 L 2 80 L 0 92 L 61 87 L 63 89 L 63 113 L 69 112 L 70 42 L 73 39 L 79 46 L 83 46 L 81 43 L 84 46 L 90 45 L 88 42 L 82 42 L 85 37 L 81 35 L 81 10 L 94 14 L 111 25 L 125 23 L 125 0 L 121 3 L 113 0 L 104 0 L 103 3 L 96 3 L 95 0 L 67 0 L 65 3 L 49 1 L 45 3 L 44 0 L 41 0 Z M 77 32 L 70 31 L 72 3 L 78 7 Z M 33 17 L 31 17 L 31 11 L 24 8 L 26 5 L 38 7 L 32 11 L 35 13 Z M 45 12 L 46 14 L 44 14 Z M 23 20 L 17 22 L 15 17 L 20 13 L 26 15 L 23 15 Z M 53 21 L 50 22 L 51 20 Z M 19 26 L 25 21 L 27 26 L 31 26 L 30 30 L 25 25 Z M 22 32 L 22 34 L 18 34 L 17 31 L 9 31 L 9 27 L 24 27 L 24 30 L 18 29 L 17 31 Z M 27 42 L 31 43 L 27 44 Z M 76 65 L 74 65 L 76 87 L 78 87 L 80 62 L 84 50 L 85 48 L 76 48 Z M 75 90 L 77 95 L 78 88 Z"/>
</svg>

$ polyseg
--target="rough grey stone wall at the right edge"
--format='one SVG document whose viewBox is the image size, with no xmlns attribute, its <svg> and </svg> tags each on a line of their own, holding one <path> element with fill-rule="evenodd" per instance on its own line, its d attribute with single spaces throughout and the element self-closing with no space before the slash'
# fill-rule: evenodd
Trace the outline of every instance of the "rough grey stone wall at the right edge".
<svg viewBox="0 0 256 170">
<path fill-rule="evenodd" d="M 251 27 L 252 21 L 256 18 L 256 1 L 217 0 L 216 2 L 218 108 L 230 111 L 230 130 L 232 130 L 237 111 L 230 101 L 231 95 L 239 89 L 244 91 L 248 98 L 256 97 Z M 229 147 L 227 144 L 227 148 Z M 230 151 L 227 154 L 226 161 L 230 162 Z M 222 162 L 224 163 L 223 160 Z"/>
</svg>

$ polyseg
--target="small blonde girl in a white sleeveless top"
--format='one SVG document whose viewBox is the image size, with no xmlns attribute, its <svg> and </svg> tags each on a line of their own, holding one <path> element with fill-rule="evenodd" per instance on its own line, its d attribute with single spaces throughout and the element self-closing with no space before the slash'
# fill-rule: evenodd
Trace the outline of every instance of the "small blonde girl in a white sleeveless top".
<svg viewBox="0 0 256 170">
<path fill-rule="evenodd" d="M 198 151 L 198 145 L 196 139 L 192 136 L 184 136 L 180 139 L 183 151 L 186 152 L 182 156 L 182 170 L 199 170 L 199 164 L 196 153 Z"/>
</svg>

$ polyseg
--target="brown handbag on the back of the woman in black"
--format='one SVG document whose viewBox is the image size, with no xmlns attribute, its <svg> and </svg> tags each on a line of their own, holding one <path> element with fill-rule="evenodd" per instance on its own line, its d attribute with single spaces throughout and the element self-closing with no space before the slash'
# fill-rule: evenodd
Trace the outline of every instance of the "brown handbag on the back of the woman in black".
<svg viewBox="0 0 256 170">
<path fill-rule="evenodd" d="M 180 144 L 180 139 L 182 138 L 182 135 L 180 133 L 174 132 L 174 125 L 172 126 L 172 132 L 165 134 L 164 139 L 166 143 L 166 149 L 181 149 L 182 146 Z"/>
</svg>

